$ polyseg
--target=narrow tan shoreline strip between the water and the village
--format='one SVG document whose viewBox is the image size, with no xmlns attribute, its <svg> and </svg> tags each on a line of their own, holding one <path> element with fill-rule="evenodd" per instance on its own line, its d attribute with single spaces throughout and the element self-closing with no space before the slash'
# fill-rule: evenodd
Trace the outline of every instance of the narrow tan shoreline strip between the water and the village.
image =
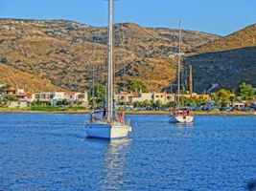
<svg viewBox="0 0 256 191">
<path fill-rule="evenodd" d="M 0 114 L 89 114 L 89 110 L 36 111 L 30 109 L 0 108 Z M 169 111 L 127 111 L 127 115 L 169 115 Z M 251 116 L 256 112 L 241 111 L 197 111 L 196 116 Z"/>
</svg>

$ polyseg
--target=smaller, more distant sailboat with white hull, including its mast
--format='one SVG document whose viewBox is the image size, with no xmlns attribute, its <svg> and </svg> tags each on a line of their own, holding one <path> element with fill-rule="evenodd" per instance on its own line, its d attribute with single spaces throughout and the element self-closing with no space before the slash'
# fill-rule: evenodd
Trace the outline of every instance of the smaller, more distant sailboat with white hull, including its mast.
<svg viewBox="0 0 256 191">
<path fill-rule="evenodd" d="M 180 107 L 180 62 L 181 62 L 181 23 L 179 22 L 178 32 L 178 61 L 177 61 L 177 108 L 171 110 L 170 122 L 192 123 L 195 114 L 189 107 Z"/>
</svg>

